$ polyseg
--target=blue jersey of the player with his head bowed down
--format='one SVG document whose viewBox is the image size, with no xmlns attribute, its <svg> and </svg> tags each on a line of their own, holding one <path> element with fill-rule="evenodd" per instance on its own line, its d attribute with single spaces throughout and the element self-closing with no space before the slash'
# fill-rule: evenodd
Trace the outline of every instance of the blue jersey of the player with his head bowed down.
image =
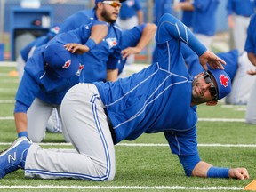
<svg viewBox="0 0 256 192">
<path fill-rule="evenodd" d="M 91 36 L 92 26 L 93 23 L 90 23 L 68 33 L 55 36 L 48 44 L 57 42 L 64 45 L 68 43 L 67 39 L 70 39 L 72 43 L 82 42 L 85 44 Z M 36 97 L 47 103 L 60 105 L 68 89 L 79 83 L 83 65 L 80 66 L 76 76 L 70 78 L 61 78 L 56 75 L 52 68 L 45 68 L 44 49 L 48 44 L 36 48 L 26 63 L 24 75 L 15 97 L 15 113 L 26 112 Z"/>
</svg>

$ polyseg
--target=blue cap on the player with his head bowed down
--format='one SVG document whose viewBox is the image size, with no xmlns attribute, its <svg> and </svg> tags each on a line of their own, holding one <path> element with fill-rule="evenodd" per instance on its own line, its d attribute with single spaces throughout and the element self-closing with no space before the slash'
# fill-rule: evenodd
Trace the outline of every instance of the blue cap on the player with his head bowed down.
<svg viewBox="0 0 256 192">
<path fill-rule="evenodd" d="M 47 44 L 44 48 L 44 60 L 61 77 L 75 76 L 80 67 L 76 54 L 68 52 L 64 44 Z"/>
</svg>

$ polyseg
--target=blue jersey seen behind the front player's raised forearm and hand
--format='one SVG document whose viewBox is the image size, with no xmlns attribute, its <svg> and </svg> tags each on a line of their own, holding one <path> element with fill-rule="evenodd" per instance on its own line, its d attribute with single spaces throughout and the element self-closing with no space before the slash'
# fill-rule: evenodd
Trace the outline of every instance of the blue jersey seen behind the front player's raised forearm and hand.
<svg viewBox="0 0 256 192">
<path fill-rule="evenodd" d="M 189 74 L 191 74 L 192 76 L 196 76 L 197 74 L 204 71 L 204 68 L 199 63 L 198 55 L 196 55 L 196 53 L 193 52 L 187 44 L 181 45 L 181 52 L 185 62 L 188 65 Z M 226 71 L 226 73 L 228 73 L 231 81 L 233 81 L 234 77 L 236 76 L 236 70 L 238 68 L 238 51 L 235 49 L 229 52 L 219 52 L 216 53 L 216 55 L 222 60 L 226 61 L 224 70 Z M 208 65 L 208 68 L 211 67 Z"/>
</svg>

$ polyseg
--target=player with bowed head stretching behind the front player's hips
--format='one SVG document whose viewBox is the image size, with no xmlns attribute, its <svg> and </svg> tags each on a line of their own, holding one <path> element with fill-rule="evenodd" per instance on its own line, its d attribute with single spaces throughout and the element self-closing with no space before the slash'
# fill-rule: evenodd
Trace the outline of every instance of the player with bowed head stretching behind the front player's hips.
<svg viewBox="0 0 256 192">
<path fill-rule="evenodd" d="M 99 21 L 81 26 L 81 28 L 77 28 L 74 31 L 60 34 L 58 37 L 55 36 L 56 38 L 53 38 L 48 44 L 36 48 L 32 57 L 28 59 L 15 96 L 14 119 L 19 137 L 28 136 L 35 142 L 41 142 L 44 138 L 46 124 L 52 113 L 52 108 L 57 108 L 60 115 L 60 103 L 65 93 L 70 87 L 79 83 L 83 65 L 78 66 L 75 73 L 67 72 L 64 76 L 62 74 L 56 75 L 51 66 L 50 68 L 47 67 L 50 56 L 46 60 L 44 51 L 51 48 L 52 58 L 56 58 L 54 62 L 62 64 L 63 68 L 69 68 L 64 65 L 70 59 L 64 44 L 67 44 L 66 48 L 69 49 L 73 48 L 74 44 L 68 44 L 67 39 L 72 39 L 73 42 L 76 40 L 76 43 L 78 42 L 79 44 L 86 43 L 84 47 L 88 52 L 95 44 L 99 44 L 108 33 L 106 22 L 103 25 L 94 25 L 96 22 Z M 54 46 L 54 44 L 59 44 L 59 46 Z M 54 47 L 56 47 L 56 50 L 54 50 Z M 81 47 L 83 46 L 81 45 Z M 81 47 L 72 50 L 73 53 L 78 52 Z M 48 51 L 48 53 L 50 54 L 51 51 Z M 76 62 L 76 60 L 78 62 L 78 55 L 72 54 L 71 59 L 72 63 Z M 28 108 L 30 116 L 27 119 Z M 65 140 L 69 141 L 64 129 L 63 134 Z"/>
</svg>

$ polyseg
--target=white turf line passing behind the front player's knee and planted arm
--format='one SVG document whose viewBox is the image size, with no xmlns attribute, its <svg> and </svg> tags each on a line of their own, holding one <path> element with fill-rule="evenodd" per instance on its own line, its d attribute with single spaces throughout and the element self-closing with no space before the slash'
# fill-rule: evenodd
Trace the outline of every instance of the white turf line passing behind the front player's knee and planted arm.
<svg viewBox="0 0 256 192">
<path fill-rule="evenodd" d="M 72 146 L 71 143 L 38 143 L 40 146 Z M 11 146 L 12 142 L 0 142 L 0 146 Z M 123 147 L 169 147 L 164 143 L 118 143 L 116 146 Z M 256 144 L 198 144 L 198 147 L 223 147 L 223 148 L 256 148 Z"/>
</svg>

